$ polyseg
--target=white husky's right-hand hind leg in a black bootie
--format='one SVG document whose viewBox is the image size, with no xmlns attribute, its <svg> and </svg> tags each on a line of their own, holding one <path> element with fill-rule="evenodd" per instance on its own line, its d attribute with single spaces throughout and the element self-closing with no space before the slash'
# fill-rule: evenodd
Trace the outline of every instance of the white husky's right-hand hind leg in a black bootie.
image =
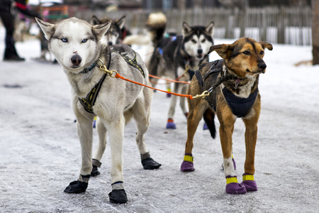
<svg viewBox="0 0 319 213">
<path fill-rule="evenodd" d="M 150 89 L 144 89 L 144 93 L 149 93 Z M 150 157 L 147 151 L 144 134 L 150 126 L 150 99 L 151 94 L 145 94 L 144 98 L 138 98 L 131 109 L 138 132 L 136 133 L 136 143 L 140 151 L 140 158 L 142 166 L 145 170 L 154 170 L 159 168 L 162 164 L 157 163 Z"/>
</svg>

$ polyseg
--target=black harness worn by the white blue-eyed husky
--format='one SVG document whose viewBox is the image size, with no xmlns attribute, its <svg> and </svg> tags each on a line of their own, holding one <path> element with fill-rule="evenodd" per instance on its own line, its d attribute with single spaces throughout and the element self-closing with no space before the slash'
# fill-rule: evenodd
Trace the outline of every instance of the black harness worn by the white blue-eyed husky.
<svg viewBox="0 0 319 213">
<path fill-rule="evenodd" d="M 124 60 L 126 62 L 128 62 L 130 65 L 132 65 L 133 67 L 138 69 L 140 71 L 140 73 L 142 74 L 142 76 L 145 77 L 145 73 L 144 73 L 142 67 L 140 67 L 140 65 L 138 64 L 138 59 L 136 58 L 136 53 L 135 53 L 135 58 L 133 58 L 133 60 L 131 60 L 128 57 L 125 57 L 124 55 L 121 55 L 121 56 L 124 58 Z M 108 60 L 107 69 L 109 69 L 110 64 L 111 64 L 111 53 L 110 53 L 110 59 Z M 97 66 L 97 62 L 94 62 L 94 64 L 91 67 L 84 69 L 84 71 L 82 71 L 80 73 L 89 72 L 93 69 L 94 66 Z M 105 72 L 104 75 L 101 77 L 101 80 L 99 80 L 99 82 L 97 84 L 95 84 L 95 86 L 91 89 L 91 92 L 89 92 L 89 94 L 87 94 L 85 98 L 79 98 L 79 102 L 82 104 L 85 111 L 87 111 L 91 114 L 94 114 L 93 106 L 96 102 L 96 98 L 99 94 L 101 86 L 102 86 L 104 80 L 106 79 L 106 75 L 107 75 L 107 73 Z"/>
</svg>

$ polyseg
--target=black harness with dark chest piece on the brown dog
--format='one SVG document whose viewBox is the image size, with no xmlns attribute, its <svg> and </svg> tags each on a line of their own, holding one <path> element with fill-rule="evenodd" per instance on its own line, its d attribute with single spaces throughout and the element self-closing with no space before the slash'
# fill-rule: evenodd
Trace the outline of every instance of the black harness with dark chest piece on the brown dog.
<svg viewBox="0 0 319 213">
<path fill-rule="evenodd" d="M 234 75 L 223 75 L 223 61 L 224 60 L 216 60 L 211 62 L 211 70 L 209 70 L 203 77 L 201 76 L 201 72 L 196 71 L 195 73 L 199 87 L 201 87 L 201 91 L 203 91 L 204 80 L 206 79 L 206 77 L 208 77 L 209 75 L 215 75 L 213 79 L 216 80 L 216 82 L 215 84 L 213 84 L 213 87 L 208 89 L 210 96 L 206 97 L 206 100 L 214 111 L 216 111 L 216 88 L 220 84 L 222 84 L 223 82 L 227 82 L 228 80 L 238 80 L 238 77 L 235 77 Z M 201 65 L 201 67 L 203 66 L 204 65 Z M 201 67 L 199 67 L 199 69 L 201 69 Z M 218 77 L 218 75 L 220 75 L 220 77 Z M 226 87 L 222 89 L 222 92 L 228 104 L 228 107 L 230 107 L 233 114 L 235 114 L 235 116 L 237 116 L 238 118 L 241 118 L 246 116 L 252 108 L 252 105 L 254 104 L 254 101 L 258 94 L 258 89 L 255 89 L 254 92 L 252 92 L 252 94 L 250 94 L 250 96 L 247 98 L 237 97 Z"/>
</svg>

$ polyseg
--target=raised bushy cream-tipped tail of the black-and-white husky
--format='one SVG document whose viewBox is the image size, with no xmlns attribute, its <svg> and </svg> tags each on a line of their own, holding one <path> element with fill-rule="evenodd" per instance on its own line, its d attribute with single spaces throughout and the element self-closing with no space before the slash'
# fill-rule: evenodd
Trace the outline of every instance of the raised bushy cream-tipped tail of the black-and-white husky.
<svg viewBox="0 0 319 213">
<path fill-rule="evenodd" d="M 159 40 L 164 38 L 166 30 L 167 18 L 164 13 L 150 13 L 148 16 L 145 27 L 150 32 L 150 38 L 153 45 L 157 46 Z"/>
</svg>

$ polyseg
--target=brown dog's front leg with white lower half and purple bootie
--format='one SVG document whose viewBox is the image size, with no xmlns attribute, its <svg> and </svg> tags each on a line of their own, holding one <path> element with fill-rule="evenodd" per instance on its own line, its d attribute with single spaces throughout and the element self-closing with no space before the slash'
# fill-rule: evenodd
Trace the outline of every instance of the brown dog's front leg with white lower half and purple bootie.
<svg viewBox="0 0 319 213">
<path fill-rule="evenodd" d="M 221 112 L 222 111 L 222 112 Z M 233 150 L 233 131 L 235 124 L 235 117 L 228 107 L 218 111 L 218 119 L 220 121 L 220 144 L 223 151 L 223 167 L 226 178 L 226 193 L 228 194 L 245 194 L 245 186 L 237 181 L 235 175 L 235 167 L 232 160 Z"/>
</svg>

